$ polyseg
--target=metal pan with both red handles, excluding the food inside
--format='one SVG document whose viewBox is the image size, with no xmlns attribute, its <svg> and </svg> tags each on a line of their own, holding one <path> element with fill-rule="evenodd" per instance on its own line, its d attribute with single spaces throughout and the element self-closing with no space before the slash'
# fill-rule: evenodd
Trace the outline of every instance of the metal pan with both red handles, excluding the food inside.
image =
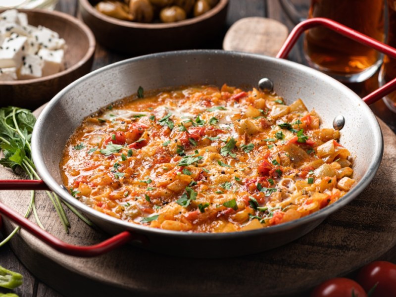
<svg viewBox="0 0 396 297">
<path fill-rule="evenodd" d="M 53 238 L 1 203 L 0 212 L 52 247 L 80 256 L 97 255 L 131 242 L 149 250 L 168 254 L 225 257 L 279 247 L 303 236 L 368 186 L 379 167 L 383 152 L 379 124 L 362 99 L 323 73 L 281 59 L 287 56 L 301 32 L 317 25 L 337 30 L 396 57 L 396 50 L 393 48 L 334 21 L 317 18 L 300 23 L 277 58 L 222 50 L 187 50 L 150 54 L 108 65 L 62 90 L 49 102 L 38 118 L 32 137 L 32 150 L 34 163 L 43 182 L 3 181 L 0 183 L 0 189 L 43 189 L 47 185 L 102 230 L 109 234 L 119 234 L 94 247 L 75 247 Z M 231 86 L 257 87 L 262 78 L 269 78 L 277 94 L 283 96 L 288 103 L 301 98 L 308 109 L 315 108 L 321 116 L 322 127 L 332 127 L 337 116 L 342 115 L 345 118 L 345 126 L 341 130 L 341 144 L 351 151 L 356 184 L 337 202 L 306 217 L 273 227 L 245 232 L 196 234 L 159 230 L 115 219 L 79 202 L 61 186 L 59 162 L 65 143 L 81 121 L 99 107 L 136 93 L 139 86 L 143 86 L 145 90 L 223 83 Z M 395 90 L 395 85 L 396 80 L 364 100 L 372 103 Z"/>
</svg>

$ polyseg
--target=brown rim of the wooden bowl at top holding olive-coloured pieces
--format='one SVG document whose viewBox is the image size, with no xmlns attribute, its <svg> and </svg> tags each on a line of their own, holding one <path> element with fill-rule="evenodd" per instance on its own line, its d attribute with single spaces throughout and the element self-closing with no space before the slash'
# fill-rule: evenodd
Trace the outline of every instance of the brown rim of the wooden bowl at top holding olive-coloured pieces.
<svg viewBox="0 0 396 297">
<path fill-rule="evenodd" d="M 89 2 L 89 0 L 79 0 L 80 5 L 83 6 L 91 15 L 100 19 L 103 22 L 111 23 L 113 25 L 134 28 L 134 29 L 170 29 L 170 28 L 178 28 L 183 26 L 193 25 L 199 22 L 203 22 L 207 20 L 220 11 L 222 11 L 228 4 L 229 0 L 220 0 L 212 9 L 207 11 L 204 14 L 201 14 L 197 17 L 185 19 L 183 21 L 174 22 L 174 23 L 137 23 L 132 21 L 124 21 L 119 20 L 107 15 L 100 13 L 98 10 L 94 8 L 94 6 Z"/>
</svg>

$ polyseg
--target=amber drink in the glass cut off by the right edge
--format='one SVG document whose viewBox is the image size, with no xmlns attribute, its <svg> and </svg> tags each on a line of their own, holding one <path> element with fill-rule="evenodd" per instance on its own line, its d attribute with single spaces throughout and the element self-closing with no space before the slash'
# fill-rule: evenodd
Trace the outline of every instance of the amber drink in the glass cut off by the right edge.
<svg viewBox="0 0 396 297">
<path fill-rule="evenodd" d="M 396 0 L 388 0 L 388 44 L 396 48 Z M 387 83 L 396 77 L 396 59 L 392 59 L 388 56 L 384 57 L 384 64 L 381 68 L 380 79 L 381 83 Z M 391 93 L 384 98 L 385 103 L 388 107 L 396 112 L 396 92 Z"/>
</svg>

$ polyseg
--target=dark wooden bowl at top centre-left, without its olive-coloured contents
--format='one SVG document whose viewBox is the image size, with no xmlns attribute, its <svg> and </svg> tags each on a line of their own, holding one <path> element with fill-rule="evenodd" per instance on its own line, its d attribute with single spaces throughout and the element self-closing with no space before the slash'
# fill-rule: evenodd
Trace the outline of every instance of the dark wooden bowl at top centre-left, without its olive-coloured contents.
<svg viewBox="0 0 396 297">
<path fill-rule="evenodd" d="M 94 7 L 99 0 L 79 0 L 84 22 L 92 29 L 99 44 L 130 55 L 197 49 L 213 40 L 227 16 L 229 0 L 220 0 L 208 12 L 175 23 L 137 23 L 100 13 Z"/>
</svg>

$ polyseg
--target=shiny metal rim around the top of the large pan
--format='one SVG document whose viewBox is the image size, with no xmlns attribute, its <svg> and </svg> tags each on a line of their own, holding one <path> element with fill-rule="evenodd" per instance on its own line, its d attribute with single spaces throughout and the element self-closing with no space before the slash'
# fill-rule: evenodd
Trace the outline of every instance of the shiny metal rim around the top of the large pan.
<svg viewBox="0 0 396 297">
<path fill-rule="evenodd" d="M 98 75 L 99 73 L 103 71 L 108 71 L 109 69 L 112 69 L 114 67 L 119 67 L 121 65 L 129 64 L 129 63 L 135 63 L 139 61 L 143 61 L 146 59 L 154 59 L 154 58 L 166 58 L 169 56 L 175 56 L 175 55 L 181 55 L 181 56 L 191 56 L 191 55 L 230 55 L 230 56 L 238 56 L 238 57 L 247 57 L 247 58 L 255 58 L 258 60 L 266 60 L 266 61 L 272 61 L 274 63 L 279 64 L 279 67 L 286 67 L 286 68 L 298 68 L 298 70 L 303 71 L 305 74 L 311 74 L 315 78 L 321 79 L 322 81 L 326 81 L 326 84 L 330 87 L 331 85 L 336 86 L 338 89 L 341 89 L 342 92 L 347 96 L 348 99 L 355 101 L 356 105 L 359 105 L 359 108 L 363 108 L 363 112 L 367 113 L 367 117 L 369 118 L 370 122 L 367 123 L 367 125 L 371 125 L 371 128 L 373 129 L 373 136 L 374 139 L 372 139 L 373 143 L 377 143 L 378 146 L 376 146 L 373 158 L 371 162 L 368 164 L 368 170 L 365 175 L 362 176 L 360 181 L 342 198 L 337 200 L 336 202 L 312 213 L 307 216 L 304 216 L 302 218 L 299 218 L 297 220 L 293 220 L 290 222 L 286 222 L 283 224 L 271 226 L 271 227 L 266 227 L 262 229 L 256 229 L 256 230 L 250 230 L 250 231 L 236 231 L 236 232 L 230 232 L 230 233 L 193 233 L 193 232 L 180 232 L 180 231 L 171 231 L 171 230 L 163 230 L 163 229 L 156 229 L 156 228 L 151 228 L 148 226 L 143 226 L 143 225 L 138 225 L 130 222 L 126 222 L 120 219 L 113 218 L 109 215 L 106 215 L 104 213 L 101 213 L 88 205 L 83 204 L 76 198 L 72 197 L 68 192 L 66 192 L 64 189 L 60 187 L 59 184 L 56 183 L 56 181 L 52 178 L 52 176 L 49 174 L 49 170 L 47 169 L 46 162 L 44 158 L 42 158 L 42 153 L 39 152 L 38 148 L 40 147 L 40 131 L 43 130 L 43 126 L 45 125 L 45 118 L 49 115 L 51 112 L 51 109 L 53 106 L 56 105 L 57 101 L 60 100 L 63 95 L 65 95 L 69 90 L 75 88 L 78 86 L 81 82 L 94 77 Z M 98 106 L 99 109 L 100 106 Z M 88 114 L 87 114 L 88 115 Z M 176 50 L 176 51 L 168 51 L 168 52 L 159 52 L 159 53 L 154 53 L 154 54 L 148 54 L 148 55 L 143 55 L 143 56 L 138 56 L 138 57 L 133 57 L 129 58 L 126 60 L 122 60 L 116 63 L 112 63 L 109 65 L 106 65 L 104 67 L 101 67 L 95 71 L 92 71 L 91 73 L 86 74 L 85 76 L 79 78 L 75 82 L 71 83 L 67 87 L 65 87 L 63 90 L 61 90 L 53 99 L 49 101 L 47 106 L 44 108 L 44 110 L 41 112 L 39 115 L 35 128 L 33 129 L 33 135 L 32 135 L 32 157 L 33 161 L 36 165 L 37 171 L 39 176 L 43 179 L 43 181 L 49 186 L 49 188 L 54 191 L 56 194 L 58 194 L 62 199 L 66 200 L 68 203 L 71 205 L 77 207 L 78 209 L 83 210 L 84 213 L 88 213 L 90 217 L 95 217 L 95 219 L 111 223 L 112 225 L 116 225 L 117 227 L 120 227 L 124 230 L 129 230 L 129 231 L 138 231 L 139 233 L 156 233 L 156 234 L 162 234 L 166 235 L 169 237 L 181 237 L 181 238 L 188 238 L 188 239 L 206 239 L 206 240 L 221 240 L 225 238 L 234 238 L 236 236 L 238 237 L 245 237 L 245 236 L 251 236 L 253 234 L 260 234 L 261 236 L 265 234 L 272 234 L 272 233 L 277 233 L 289 229 L 293 229 L 297 226 L 301 226 L 304 224 L 307 224 L 309 222 L 312 222 L 314 220 L 324 220 L 327 216 L 329 216 L 331 213 L 335 212 L 337 209 L 345 206 L 347 203 L 349 203 L 351 200 L 356 198 L 363 190 L 369 185 L 369 183 L 372 181 L 374 178 L 375 173 L 377 172 L 382 156 L 383 156 L 383 148 L 384 148 L 384 142 L 383 142 L 383 137 L 382 137 L 382 132 L 381 128 L 379 126 L 379 123 L 377 119 L 375 118 L 375 115 L 369 108 L 367 104 L 365 104 L 359 96 L 357 96 L 353 91 L 351 91 L 349 88 L 347 88 L 345 85 L 342 83 L 338 82 L 337 80 L 329 77 L 328 75 L 321 73 L 315 69 L 309 68 L 305 65 L 298 64 L 297 62 L 285 60 L 285 59 L 279 59 L 279 58 L 274 58 L 274 57 L 269 57 L 269 56 L 263 56 L 259 54 L 252 54 L 252 53 L 244 53 L 244 52 L 238 52 L 238 51 L 224 51 L 224 50 L 219 50 L 219 49 L 194 49 L 194 50 Z"/>
</svg>

